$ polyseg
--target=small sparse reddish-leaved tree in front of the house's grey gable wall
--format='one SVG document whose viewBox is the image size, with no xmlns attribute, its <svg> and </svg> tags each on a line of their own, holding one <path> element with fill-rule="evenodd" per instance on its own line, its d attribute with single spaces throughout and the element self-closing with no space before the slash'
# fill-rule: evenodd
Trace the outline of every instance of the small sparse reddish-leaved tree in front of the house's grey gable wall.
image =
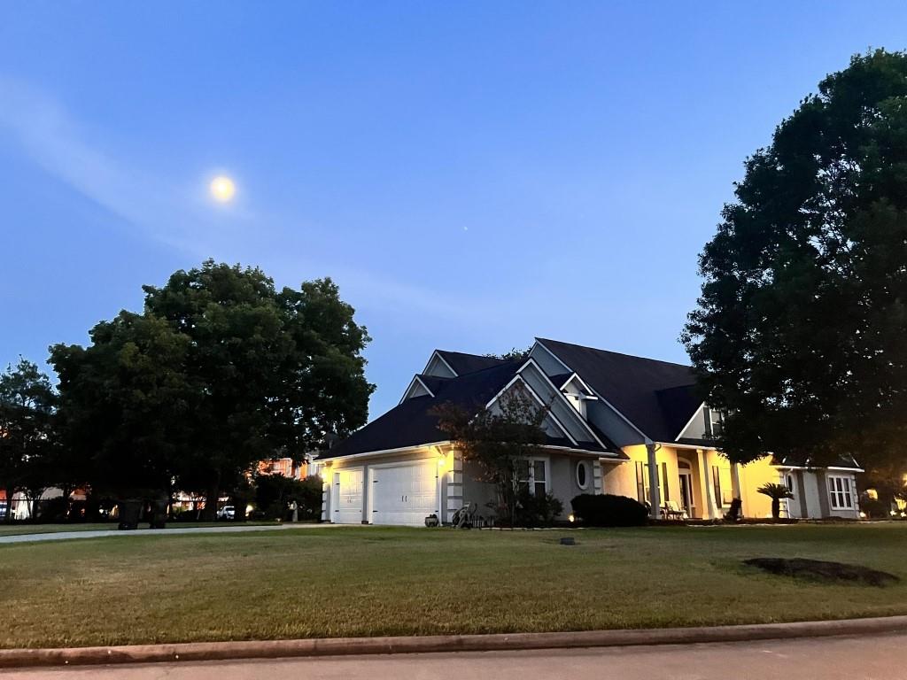
<svg viewBox="0 0 907 680">
<path fill-rule="evenodd" d="M 445 403 L 434 409 L 438 427 L 463 453 L 464 462 L 479 470 L 478 481 L 494 485 L 505 521 L 517 513 L 521 463 L 541 452 L 546 442 L 542 428 L 548 409 L 517 384 L 511 392 L 478 413 Z"/>
</svg>

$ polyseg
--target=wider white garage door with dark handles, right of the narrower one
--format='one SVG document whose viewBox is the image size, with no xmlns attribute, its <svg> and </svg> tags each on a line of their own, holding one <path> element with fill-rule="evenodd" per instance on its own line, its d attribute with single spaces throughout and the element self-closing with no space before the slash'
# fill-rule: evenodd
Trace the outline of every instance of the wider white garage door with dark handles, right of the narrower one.
<svg viewBox="0 0 907 680">
<path fill-rule="evenodd" d="M 372 468 L 372 523 L 424 526 L 438 511 L 437 474 L 435 459 Z"/>
</svg>

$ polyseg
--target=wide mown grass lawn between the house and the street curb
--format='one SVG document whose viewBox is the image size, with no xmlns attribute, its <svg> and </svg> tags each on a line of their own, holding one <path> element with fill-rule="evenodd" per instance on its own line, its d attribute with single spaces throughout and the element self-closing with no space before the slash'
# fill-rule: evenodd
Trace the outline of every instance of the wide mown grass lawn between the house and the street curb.
<svg viewBox="0 0 907 680">
<path fill-rule="evenodd" d="M 321 528 L 0 546 L 0 646 L 697 626 L 907 614 L 907 525 Z M 748 557 L 891 571 L 889 588 Z"/>
</svg>

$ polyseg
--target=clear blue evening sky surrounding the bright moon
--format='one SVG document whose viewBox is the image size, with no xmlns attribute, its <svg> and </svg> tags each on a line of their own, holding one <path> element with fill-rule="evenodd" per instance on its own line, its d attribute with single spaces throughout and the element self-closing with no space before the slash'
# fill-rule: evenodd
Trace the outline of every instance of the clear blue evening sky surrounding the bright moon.
<svg viewBox="0 0 907 680">
<path fill-rule="evenodd" d="M 742 161 L 904 26 L 883 2 L 4 2 L 0 362 L 205 257 L 334 277 L 372 417 L 434 347 L 684 361 Z"/>
</svg>

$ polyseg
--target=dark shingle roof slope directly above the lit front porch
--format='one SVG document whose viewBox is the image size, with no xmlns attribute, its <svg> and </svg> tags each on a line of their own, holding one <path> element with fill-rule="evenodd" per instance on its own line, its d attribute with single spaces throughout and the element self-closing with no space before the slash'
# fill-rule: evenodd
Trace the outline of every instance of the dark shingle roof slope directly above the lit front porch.
<svg viewBox="0 0 907 680">
<path fill-rule="evenodd" d="M 538 340 L 653 441 L 676 441 L 702 403 L 690 366 Z"/>
</svg>

